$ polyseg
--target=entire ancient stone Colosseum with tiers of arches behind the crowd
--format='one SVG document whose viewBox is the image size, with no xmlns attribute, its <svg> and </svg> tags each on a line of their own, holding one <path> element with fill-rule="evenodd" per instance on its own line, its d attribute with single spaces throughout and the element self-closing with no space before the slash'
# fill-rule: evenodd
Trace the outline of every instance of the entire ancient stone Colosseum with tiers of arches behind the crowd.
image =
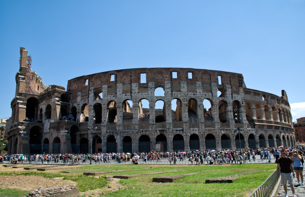
<svg viewBox="0 0 305 197">
<path fill-rule="evenodd" d="M 294 146 L 281 94 L 249 89 L 239 73 L 191 68 L 113 70 L 46 86 L 20 47 L 8 154 Z"/>
</svg>

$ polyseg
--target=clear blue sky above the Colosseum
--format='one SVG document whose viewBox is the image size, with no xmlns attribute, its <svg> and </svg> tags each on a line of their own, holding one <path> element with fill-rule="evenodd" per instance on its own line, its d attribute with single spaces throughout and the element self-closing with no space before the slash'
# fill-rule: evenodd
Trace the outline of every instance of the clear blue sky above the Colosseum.
<svg viewBox="0 0 305 197">
<path fill-rule="evenodd" d="M 304 0 L 1 0 L 0 28 L 6 118 L 19 47 L 46 85 L 115 69 L 183 67 L 242 73 L 248 88 L 286 90 L 291 104 L 304 102 Z"/>
</svg>

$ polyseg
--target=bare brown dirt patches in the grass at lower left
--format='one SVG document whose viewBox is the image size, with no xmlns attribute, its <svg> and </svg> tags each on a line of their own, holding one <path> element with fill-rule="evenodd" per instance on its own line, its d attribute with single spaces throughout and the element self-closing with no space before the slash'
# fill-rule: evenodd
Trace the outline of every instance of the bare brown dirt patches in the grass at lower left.
<svg viewBox="0 0 305 197">
<path fill-rule="evenodd" d="M 24 166 L 29 167 L 29 166 Z M 31 166 L 33 167 L 33 166 Z M 46 172 L 48 173 L 59 173 L 62 169 L 66 169 L 66 166 L 63 167 L 55 167 L 54 169 L 48 169 Z M 70 167 L 70 169 L 75 169 L 77 167 Z M 23 168 L 12 168 L 12 167 L 3 167 L 0 166 L 0 171 L 2 172 L 20 172 L 20 171 L 28 171 Z M 36 170 L 31 170 L 36 171 Z M 78 173 L 76 173 L 78 174 Z M 76 185 L 74 181 L 68 181 L 63 179 L 49 179 L 43 178 L 40 176 L 24 176 L 24 175 L 12 175 L 12 176 L 0 176 L 0 187 L 1 188 L 14 188 L 32 192 L 38 188 L 48 188 L 55 187 L 61 185 Z M 119 189 L 124 189 L 124 187 L 119 183 L 119 180 L 111 180 L 108 181 L 108 186 L 105 188 L 95 189 L 87 192 L 81 192 L 82 195 L 102 195 L 104 192 L 116 191 Z"/>
</svg>

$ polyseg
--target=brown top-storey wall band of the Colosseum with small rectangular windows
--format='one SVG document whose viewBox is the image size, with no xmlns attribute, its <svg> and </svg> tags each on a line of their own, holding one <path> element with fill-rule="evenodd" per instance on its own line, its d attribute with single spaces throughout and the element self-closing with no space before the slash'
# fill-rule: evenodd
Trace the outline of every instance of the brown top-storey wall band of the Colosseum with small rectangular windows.
<svg viewBox="0 0 305 197">
<path fill-rule="evenodd" d="M 173 72 L 177 78 L 173 78 Z M 146 83 L 141 83 L 141 74 L 146 74 Z M 188 77 L 192 73 L 192 78 Z M 111 76 L 114 80 L 111 81 Z M 218 81 L 221 76 L 221 82 Z M 230 85 L 232 94 L 239 94 L 239 87 L 244 86 L 243 76 L 239 73 L 191 69 L 191 68 L 139 68 L 113 70 L 100 72 L 87 76 L 80 76 L 68 81 L 67 91 L 72 92 L 72 102 L 76 101 L 77 92 L 81 91 L 81 100 L 88 98 L 88 90 L 92 87 L 95 91 L 102 92 L 102 86 L 107 86 L 108 94 L 117 93 L 117 84 L 122 84 L 123 94 L 131 93 L 132 83 L 138 83 L 138 92 L 148 92 L 149 82 L 154 82 L 155 88 L 165 87 L 165 82 L 170 82 L 172 92 L 181 92 L 181 82 L 186 82 L 188 92 L 196 92 L 196 83 L 201 83 L 202 91 L 211 93 L 211 84 L 219 84 L 219 88 Z M 95 92 L 97 93 L 97 92 Z"/>
</svg>

